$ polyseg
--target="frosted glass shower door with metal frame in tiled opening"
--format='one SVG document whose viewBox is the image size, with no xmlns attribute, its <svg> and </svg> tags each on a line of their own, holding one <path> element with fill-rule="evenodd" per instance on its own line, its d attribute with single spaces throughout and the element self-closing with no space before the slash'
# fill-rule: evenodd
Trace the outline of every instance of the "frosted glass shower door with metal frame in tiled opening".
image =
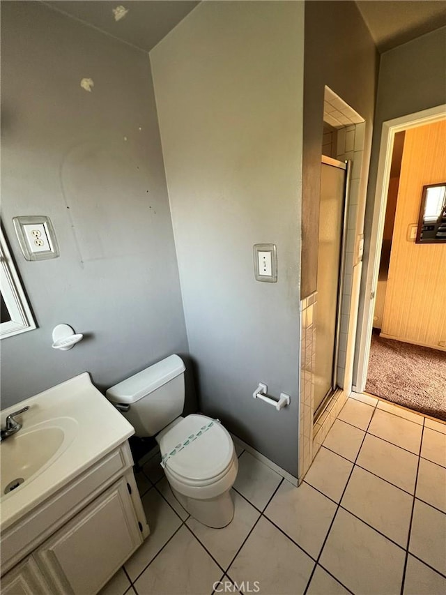
<svg viewBox="0 0 446 595">
<path fill-rule="evenodd" d="M 344 253 L 347 165 L 321 159 L 318 229 L 318 323 L 314 366 L 314 416 L 325 408 L 337 387 L 339 303 Z"/>
</svg>

